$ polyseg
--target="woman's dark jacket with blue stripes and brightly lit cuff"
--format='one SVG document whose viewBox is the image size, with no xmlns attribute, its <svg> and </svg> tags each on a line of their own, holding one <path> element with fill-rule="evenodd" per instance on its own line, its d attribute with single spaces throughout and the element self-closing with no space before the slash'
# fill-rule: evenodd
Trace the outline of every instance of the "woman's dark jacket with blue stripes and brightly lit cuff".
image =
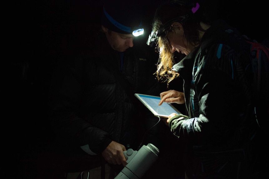
<svg viewBox="0 0 269 179">
<path fill-rule="evenodd" d="M 188 116 L 175 116 L 169 127 L 186 142 L 189 178 L 258 176 L 250 47 L 241 37 L 216 21 L 173 67 L 184 81 Z"/>
</svg>

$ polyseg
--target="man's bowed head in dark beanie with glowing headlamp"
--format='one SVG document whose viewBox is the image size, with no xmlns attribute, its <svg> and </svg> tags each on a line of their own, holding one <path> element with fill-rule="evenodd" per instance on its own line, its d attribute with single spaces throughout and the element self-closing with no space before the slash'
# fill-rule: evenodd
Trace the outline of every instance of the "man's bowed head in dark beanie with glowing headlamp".
<svg viewBox="0 0 269 179">
<path fill-rule="evenodd" d="M 102 31 L 110 46 L 118 51 L 124 52 L 133 47 L 135 36 L 143 34 L 142 4 L 116 3 L 109 1 L 103 6 Z"/>
</svg>

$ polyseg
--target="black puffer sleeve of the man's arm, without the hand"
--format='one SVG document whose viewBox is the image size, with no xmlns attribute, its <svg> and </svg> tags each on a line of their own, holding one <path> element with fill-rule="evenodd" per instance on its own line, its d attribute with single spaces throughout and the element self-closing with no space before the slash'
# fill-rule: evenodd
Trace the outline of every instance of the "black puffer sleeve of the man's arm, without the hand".
<svg viewBox="0 0 269 179">
<path fill-rule="evenodd" d="M 49 96 L 50 122 L 56 139 L 67 148 L 89 144 L 90 150 L 99 154 L 112 140 L 106 131 L 78 115 L 83 91 L 83 60 L 76 64 L 74 61 L 61 63 L 52 78 Z"/>
</svg>

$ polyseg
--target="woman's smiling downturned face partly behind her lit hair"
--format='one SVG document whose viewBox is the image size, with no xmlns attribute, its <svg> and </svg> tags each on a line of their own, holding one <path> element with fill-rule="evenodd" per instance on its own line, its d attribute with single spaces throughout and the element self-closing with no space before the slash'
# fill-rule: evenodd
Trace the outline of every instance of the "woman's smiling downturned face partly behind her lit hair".
<svg viewBox="0 0 269 179">
<path fill-rule="evenodd" d="M 172 46 L 171 52 L 174 53 L 175 51 L 188 55 L 191 50 L 188 47 L 186 40 L 184 40 L 183 34 L 169 32 L 167 34 L 167 38 Z M 185 42 L 185 43 L 184 43 Z"/>
</svg>

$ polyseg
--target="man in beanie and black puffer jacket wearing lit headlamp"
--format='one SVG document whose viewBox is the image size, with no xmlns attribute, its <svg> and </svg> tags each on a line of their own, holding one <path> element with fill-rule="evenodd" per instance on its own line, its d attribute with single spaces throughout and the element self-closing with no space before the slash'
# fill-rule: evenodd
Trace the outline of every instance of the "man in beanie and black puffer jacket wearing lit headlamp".
<svg viewBox="0 0 269 179">
<path fill-rule="evenodd" d="M 85 48 L 79 48 L 83 53 L 68 55 L 55 70 L 50 120 L 61 154 L 77 158 L 72 160 L 73 171 L 89 170 L 97 160 L 119 172 L 127 164 L 123 152 L 147 145 L 143 135 L 159 120 L 134 96 L 159 96 L 164 90 L 153 75 L 158 54 L 142 39 L 141 7 L 107 2 L 102 7 L 101 30 L 91 28 L 90 37 L 84 37 Z M 136 38 L 138 45 L 134 45 Z M 147 121 L 152 125 L 146 126 Z M 64 165 L 71 166 L 69 160 Z"/>
</svg>

